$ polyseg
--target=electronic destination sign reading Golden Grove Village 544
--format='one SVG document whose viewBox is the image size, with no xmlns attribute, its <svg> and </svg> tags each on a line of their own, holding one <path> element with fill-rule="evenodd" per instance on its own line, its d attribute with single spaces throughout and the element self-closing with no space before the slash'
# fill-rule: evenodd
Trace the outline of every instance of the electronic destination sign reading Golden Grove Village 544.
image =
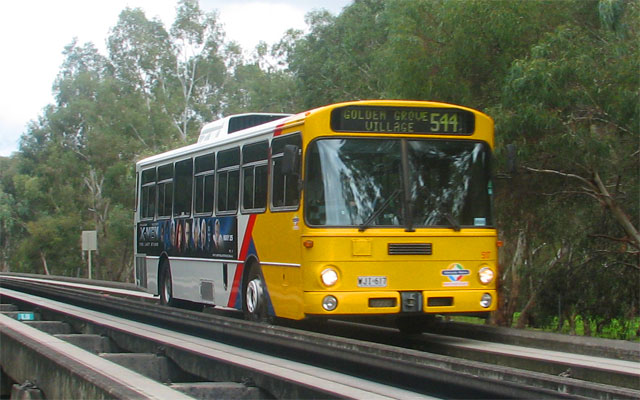
<svg viewBox="0 0 640 400">
<path fill-rule="evenodd" d="M 457 108 L 346 106 L 331 112 L 336 132 L 471 135 L 474 115 Z"/>
</svg>

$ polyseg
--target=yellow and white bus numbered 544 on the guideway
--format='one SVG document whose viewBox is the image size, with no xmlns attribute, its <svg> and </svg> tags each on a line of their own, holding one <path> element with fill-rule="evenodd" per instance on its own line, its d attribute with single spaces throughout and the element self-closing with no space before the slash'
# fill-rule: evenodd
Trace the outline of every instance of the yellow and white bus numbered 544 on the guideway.
<svg viewBox="0 0 640 400">
<path fill-rule="evenodd" d="M 243 114 L 136 164 L 136 283 L 274 317 L 496 309 L 493 120 L 372 100 Z"/>
</svg>

